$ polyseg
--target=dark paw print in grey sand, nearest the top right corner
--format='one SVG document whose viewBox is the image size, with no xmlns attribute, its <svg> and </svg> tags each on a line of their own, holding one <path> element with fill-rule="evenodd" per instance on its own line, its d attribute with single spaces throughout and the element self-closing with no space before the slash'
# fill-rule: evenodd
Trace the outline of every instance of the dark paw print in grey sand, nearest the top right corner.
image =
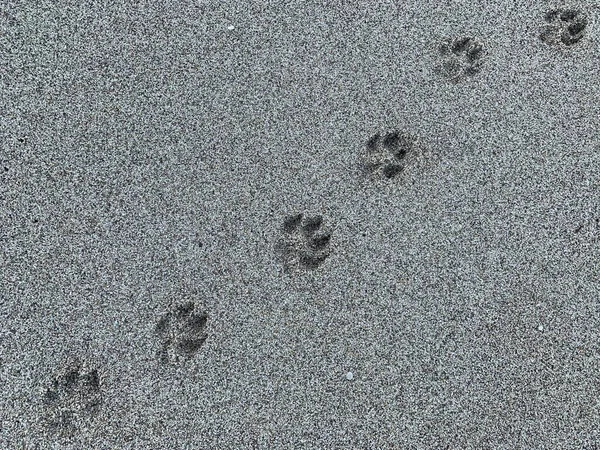
<svg viewBox="0 0 600 450">
<path fill-rule="evenodd" d="M 546 25 L 540 39 L 547 44 L 562 44 L 566 47 L 577 44 L 585 33 L 588 21 L 576 9 L 552 9 L 546 13 Z"/>
</svg>

